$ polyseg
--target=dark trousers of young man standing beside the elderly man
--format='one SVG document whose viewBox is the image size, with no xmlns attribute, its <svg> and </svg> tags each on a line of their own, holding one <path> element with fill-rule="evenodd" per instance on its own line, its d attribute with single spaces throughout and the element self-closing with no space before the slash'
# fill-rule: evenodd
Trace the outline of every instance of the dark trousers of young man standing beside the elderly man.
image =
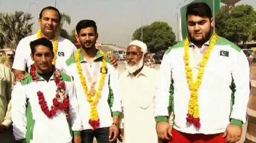
<svg viewBox="0 0 256 143">
<path fill-rule="evenodd" d="M 83 143 L 92 143 L 95 137 L 97 143 L 109 143 L 109 127 L 99 128 L 96 131 L 83 130 L 81 132 L 81 138 Z M 116 143 L 116 141 L 114 142 Z"/>
</svg>

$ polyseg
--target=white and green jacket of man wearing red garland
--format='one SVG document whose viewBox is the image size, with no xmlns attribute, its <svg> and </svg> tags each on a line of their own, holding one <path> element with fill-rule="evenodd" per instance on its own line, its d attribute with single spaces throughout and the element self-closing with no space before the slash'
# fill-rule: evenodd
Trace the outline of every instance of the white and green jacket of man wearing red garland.
<svg viewBox="0 0 256 143">
<path fill-rule="evenodd" d="M 21 143 L 71 143 L 72 130 L 82 129 L 81 119 L 76 114 L 78 104 L 72 78 L 61 72 L 61 79 L 66 84 L 70 102 L 70 121 L 68 122 L 64 111 L 58 110 L 56 116 L 48 118 L 41 110 L 37 92 L 39 90 L 43 92 L 50 110 L 57 87 L 54 76 L 49 82 L 38 74 L 36 76 L 39 81 L 33 81 L 32 76 L 28 75 L 25 80 L 17 83 L 12 91 L 12 121 L 15 139 Z"/>
</svg>

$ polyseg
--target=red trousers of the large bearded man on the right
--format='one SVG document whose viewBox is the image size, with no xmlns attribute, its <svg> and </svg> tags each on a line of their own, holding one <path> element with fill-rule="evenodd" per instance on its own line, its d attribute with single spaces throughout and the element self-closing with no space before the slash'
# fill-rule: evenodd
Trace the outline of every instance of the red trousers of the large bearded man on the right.
<svg viewBox="0 0 256 143">
<path fill-rule="evenodd" d="M 226 143 L 226 138 L 219 134 L 188 134 L 172 128 L 172 138 L 170 143 Z"/>
</svg>

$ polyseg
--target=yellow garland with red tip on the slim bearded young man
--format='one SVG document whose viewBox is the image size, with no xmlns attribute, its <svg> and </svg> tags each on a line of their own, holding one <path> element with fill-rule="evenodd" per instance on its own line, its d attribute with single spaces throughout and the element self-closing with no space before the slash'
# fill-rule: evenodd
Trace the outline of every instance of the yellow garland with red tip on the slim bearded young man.
<svg viewBox="0 0 256 143">
<path fill-rule="evenodd" d="M 83 72 L 82 72 L 83 69 L 80 64 L 80 53 L 81 53 L 81 49 L 77 50 L 76 55 L 75 55 L 76 67 L 77 67 L 78 74 L 80 76 L 80 81 L 83 86 L 85 95 L 87 97 L 87 101 L 91 104 L 91 117 L 89 120 L 89 124 L 92 126 L 92 129 L 95 130 L 95 129 L 99 128 L 99 126 L 100 126 L 100 119 L 99 119 L 97 104 L 100 100 L 101 91 L 102 91 L 104 81 L 105 81 L 106 67 L 107 67 L 106 55 L 103 51 L 100 51 L 100 54 L 103 55 L 102 65 L 101 65 L 100 84 L 99 84 L 98 90 L 96 91 L 96 96 L 93 99 L 93 97 L 91 96 L 90 91 L 88 89 L 88 86 L 86 83 L 86 78 L 84 77 Z"/>
</svg>

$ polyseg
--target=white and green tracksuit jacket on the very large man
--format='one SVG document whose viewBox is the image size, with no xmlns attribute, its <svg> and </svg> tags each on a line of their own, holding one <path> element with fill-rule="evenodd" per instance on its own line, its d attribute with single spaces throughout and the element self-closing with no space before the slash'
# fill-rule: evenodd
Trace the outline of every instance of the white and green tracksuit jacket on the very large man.
<svg viewBox="0 0 256 143">
<path fill-rule="evenodd" d="M 243 51 L 219 37 L 205 66 L 198 91 L 201 128 L 196 129 L 186 120 L 190 90 L 183 60 L 184 43 L 185 40 L 164 54 L 156 96 L 157 121 L 167 121 L 168 110 L 172 110 L 174 128 L 185 133 L 215 134 L 225 132 L 230 123 L 241 126 L 246 122 L 250 93 L 249 64 Z M 190 48 L 190 55 L 191 52 Z M 193 63 L 192 56 L 190 62 Z"/>
</svg>

